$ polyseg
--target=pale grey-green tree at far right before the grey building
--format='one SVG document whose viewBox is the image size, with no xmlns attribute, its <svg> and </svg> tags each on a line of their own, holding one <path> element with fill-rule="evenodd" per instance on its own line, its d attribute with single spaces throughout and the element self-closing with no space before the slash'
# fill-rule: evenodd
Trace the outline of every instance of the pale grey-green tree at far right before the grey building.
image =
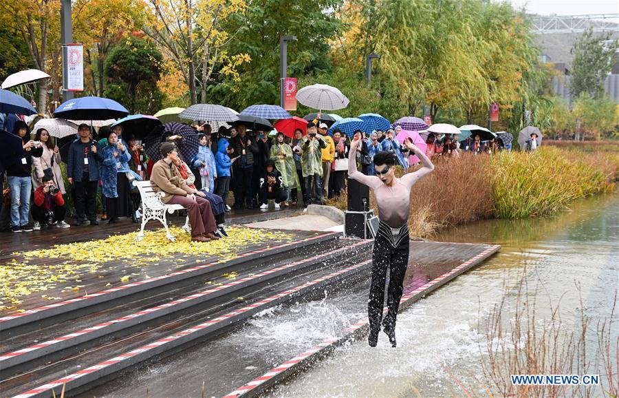
<svg viewBox="0 0 619 398">
<path fill-rule="evenodd" d="M 613 67 L 617 46 L 618 41 L 611 40 L 609 33 L 594 35 L 589 29 L 580 36 L 571 50 L 574 62 L 569 91 L 574 98 L 583 92 L 596 98 L 604 95 L 604 79 Z"/>
</svg>

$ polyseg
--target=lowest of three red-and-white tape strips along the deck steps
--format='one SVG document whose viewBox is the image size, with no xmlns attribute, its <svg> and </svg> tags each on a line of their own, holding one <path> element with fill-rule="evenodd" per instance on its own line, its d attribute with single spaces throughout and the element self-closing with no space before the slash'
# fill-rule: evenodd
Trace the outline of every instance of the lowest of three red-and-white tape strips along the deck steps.
<svg viewBox="0 0 619 398">
<path fill-rule="evenodd" d="M 140 348 L 135 348 L 134 350 L 131 350 L 127 353 L 122 353 L 120 355 L 117 355 L 116 357 L 113 357 L 111 359 L 107 359 L 104 362 L 100 362 L 94 366 L 89 366 L 88 368 L 82 369 L 82 370 L 78 370 L 75 373 L 72 373 L 71 375 L 65 376 L 61 379 L 57 379 L 55 381 L 52 381 L 50 383 L 47 384 L 43 384 L 42 386 L 39 386 L 37 388 L 33 388 L 32 390 L 28 390 L 26 392 L 23 392 L 19 395 L 16 395 L 14 398 L 28 398 L 28 397 L 32 397 L 34 395 L 40 394 L 41 392 L 45 392 L 45 391 L 49 391 L 52 390 L 53 388 L 56 387 L 60 387 L 63 384 L 75 380 L 75 379 L 79 379 L 80 377 L 83 377 L 84 375 L 89 375 L 91 373 L 96 372 L 97 370 L 103 369 L 103 368 L 107 368 L 107 366 L 113 365 L 113 364 L 118 364 L 119 362 L 122 362 L 126 359 L 129 359 L 131 357 L 134 357 L 135 355 L 138 355 L 140 353 L 144 353 L 148 350 L 151 350 L 153 348 L 159 347 L 159 346 L 164 346 L 165 344 L 169 343 L 169 342 L 173 342 L 174 340 L 180 339 L 181 337 L 185 337 L 187 335 L 191 335 L 192 333 L 195 333 L 197 331 L 200 331 L 204 328 L 207 328 L 208 326 L 211 326 L 213 324 L 217 324 L 219 322 L 222 322 L 224 320 L 228 320 L 228 318 L 230 317 L 234 317 L 235 315 L 239 315 L 241 313 L 246 313 L 247 311 L 250 311 L 254 308 L 258 308 L 259 306 L 263 306 L 265 304 L 268 304 L 270 302 L 273 302 L 275 300 L 278 300 L 282 297 L 285 297 L 287 295 L 292 295 L 298 291 L 301 291 L 302 289 L 305 289 L 307 287 L 310 286 L 314 286 L 315 284 L 319 284 L 321 282 L 324 282 L 325 280 L 329 280 L 332 277 L 336 277 L 338 275 L 342 275 L 344 273 L 348 273 L 350 271 L 354 271 L 355 269 L 360 268 L 361 266 L 364 266 L 366 264 L 369 264 L 371 262 L 371 260 L 366 260 L 364 262 L 360 262 L 358 264 L 354 264 L 351 266 L 348 266 L 345 269 L 341 269 L 340 271 L 336 271 L 334 273 L 330 273 L 329 275 L 325 275 L 323 277 L 319 277 L 318 279 L 312 280 L 310 282 L 305 282 L 304 284 L 295 286 L 292 289 L 288 289 L 287 291 L 283 291 L 281 293 L 278 293 L 276 295 L 272 295 L 270 297 L 267 297 L 263 300 L 260 300 L 259 302 L 255 302 L 254 304 L 250 304 L 248 306 L 244 306 L 243 308 L 239 308 L 235 311 L 231 311 L 230 313 L 226 313 L 224 315 L 221 315 L 217 318 L 214 318 L 213 320 L 208 320 L 207 322 L 204 322 L 202 324 L 198 324 L 195 326 L 192 326 L 191 328 L 187 328 L 184 329 L 183 331 L 180 331 L 178 333 L 175 333 L 169 337 L 164 337 L 162 339 L 158 339 L 155 342 L 146 344 L 145 346 L 142 346 Z"/>
</svg>

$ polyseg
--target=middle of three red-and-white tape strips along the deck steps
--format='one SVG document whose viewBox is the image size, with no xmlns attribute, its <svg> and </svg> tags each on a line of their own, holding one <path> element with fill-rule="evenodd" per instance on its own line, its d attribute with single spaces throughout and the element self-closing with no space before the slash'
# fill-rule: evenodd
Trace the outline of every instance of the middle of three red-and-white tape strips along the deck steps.
<svg viewBox="0 0 619 398">
<path fill-rule="evenodd" d="M 127 320 L 133 320 L 133 319 L 135 319 L 137 317 L 140 317 L 142 315 L 155 313 L 156 311 L 162 311 L 162 310 L 164 310 L 166 308 L 171 308 L 171 307 L 173 307 L 175 305 L 182 304 L 182 303 L 185 303 L 185 302 L 188 302 L 188 301 L 191 301 L 191 300 L 195 300 L 195 299 L 197 299 L 199 297 L 204 297 L 206 295 L 210 295 L 210 294 L 215 293 L 217 291 L 228 289 L 228 288 L 230 288 L 232 286 L 237 286 L 237 285 L 242 284 L 244 282 L 248 282 L 250 280 L 254 280 L 254 279 L 257 279 L 259 277 L 263 277 L 265 275 L 270 275 L 270 274 L 278 272 L 278 271 L 283 271 L 285 269 L 290 269 L 290 268 L 292 268 L 294 266 L 297 266 L 298 264 L 303 264 L 304 262 L 314 261 L 314 260 L 317 260 L 319 258 L 331 257 L 332 255 L 337 255 L 338 253 L 341 253 L 343 251 L 346 251 L 346 250 L 349 250 L 349 249 L 354 249 L 354 248 L 356 248 L 356 247 L 358 247 L 358 246 L 360 246 L 362 244 L 365 244 L 365 243 L 367 243 L 367 240 L 362 240 L 360 242 L 356 242 L 354 244 L 351 244 L 351 245 L 349 245 L 347 247 L 342 247 L 340 249 L 336 249 L 335 251 L 329 251 L 328 253 L 314 255 L 314 257 L 311 257 L 311 258 L 305 258 L 303 260 L 298 260 L 296 262 L 291 262 L 290 264 L 286 264 L 286 265 L 283 265 L 283 266 L 278 266 L 278 267 L 273 268 L 273 269 L 268 269 L 267 271 L 263 271 L 261 273 L 256 273 L 254 275 L 249 275 L 249 276 L 243 277 L 243 278 L 241 278 L 239 280 L 234 280 L 232 282 L 228 282 L 226 284 L 222 284 L 221 286 L 215 286 L 215 287 L 213 287 L 211 289 L 206 289 L 204 291 L 199 291 L 197 293 L 193 293 L 193 294 L 188 295 L 186 297 L 182 297 L 180 299 L 173 300 L 171 302 L 167 302 L 167 303 L 161 304 L 159 306 L 154 306 L 154 307 L 151 307 L 151 308 L 146 308 L 146 309 L 144 309 L 142 311 L 138 311 L 137 313 L 132 313 L 132 314 L 124 315 L 123 317 L 116 318 L 115 320 L 111 320 L 111 321 L 107 321 L 107 322 L 102 322 L 102 323 L 100 323 L 98 325 L 90 326 L 88 328 L 82 329 L 81 331 L 77 331 L 77 332 L 74 332 L 74 333 L 69 333 L 68 335 L 64 335 L 64 336 L 61 336 L 61 337 L 56 337 L 55 339 L 48 340 L 47 342 L 42 342 L 42 343 L 39 343 L 39 344 L 34 344 L 33 346 L 29 346 L 29 347 L 26 347 L 26 348 L 21 348 L 20 350 L 13 351 L 12 353 L 2 354 L 2 355 L 0 355 L 0 366 L 2 364 L 2 361 L 5 361 L 6 359 L 13 358 L 13 357 L 18 357 L 19 355 L 23 355 L 25 353 L 30 353 L 32 351 L 39 350 L 41 348 L 53 346 L 54 344 L 58 344 L 58 343 L 61 343 L 61 342 L 66 342 L 69 339 L 74 339 L 76 337 L 87 335 L 88 333 L 92 333 L 94 331 L 99 331 L 100 329 L 106 328 L 106 327 L 111 326 L 113 324 L 120 324 L 121 322 L 125 322 Z"/>
</svg>

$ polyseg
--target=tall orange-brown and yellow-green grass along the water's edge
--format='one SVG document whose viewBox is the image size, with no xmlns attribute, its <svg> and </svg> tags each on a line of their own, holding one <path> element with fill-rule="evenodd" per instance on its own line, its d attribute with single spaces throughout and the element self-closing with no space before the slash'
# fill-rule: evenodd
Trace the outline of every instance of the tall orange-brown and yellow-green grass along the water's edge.
<svg viewBox="0 0 619 398">
<path fill-rule="evenodd" d="M 619 176 L 619 152 L 540 147 L 534 152 L 462 154 L 433 158 L 435 169 L 411 191 L 411 235 L 426 238 L 444 227 L 483 218 L 546 216 L 569 203 L 609 192 Z M 398 170 L 401 176 L 408 171 Z M 345 195 L 331 200 L 345 210 Z M 378 211 L 370 198 L 371 208 Z"/>
</svg>

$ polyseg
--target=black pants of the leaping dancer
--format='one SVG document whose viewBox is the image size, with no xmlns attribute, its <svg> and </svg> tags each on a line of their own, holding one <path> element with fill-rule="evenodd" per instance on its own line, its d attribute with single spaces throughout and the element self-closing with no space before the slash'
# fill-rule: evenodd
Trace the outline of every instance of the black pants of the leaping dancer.
<svg viewBox="0 0 619 398">
<path fill-rule="evenodd" d="M 395 328 L 395 318 L 398 316 L 400 298 L 402 298 L 402 284 L 408 264 L 408 227 L 402 226 L 400 233 L 393 235 L 387 224 L 380 222 L 372 251 L 372 280 L 367 303 L 367 313 L 372 331 L 380 329 L 387 269 L 389 269 L 389 289 L 387 291 L 389 312 L 382 320 L 382 324 L 387 328 Z"/>
</svg>

